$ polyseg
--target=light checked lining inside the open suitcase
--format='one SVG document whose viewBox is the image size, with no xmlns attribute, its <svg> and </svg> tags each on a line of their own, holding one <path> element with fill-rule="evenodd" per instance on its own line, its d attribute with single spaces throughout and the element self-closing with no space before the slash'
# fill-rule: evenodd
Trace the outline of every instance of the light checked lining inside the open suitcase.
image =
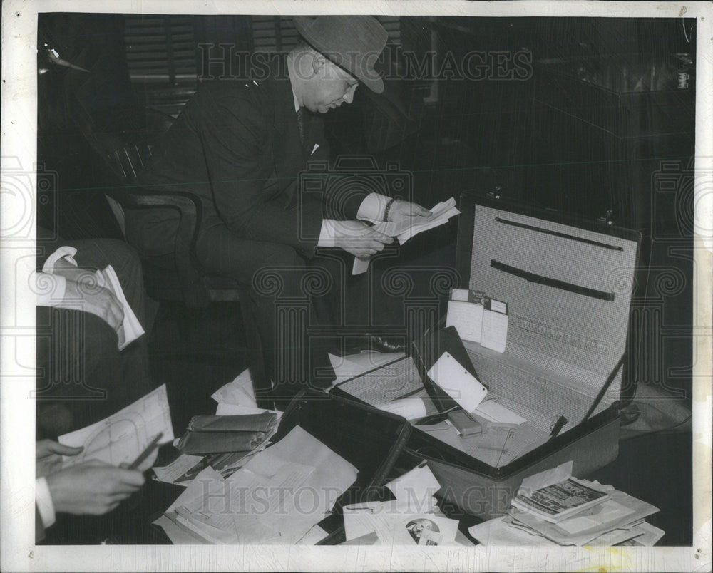
<svg viewBox="0 0 713 573">
<path fill-rule="evenodd" d="M 508 303 L 508 343 L 502 354 L 463 344 L 488 396 L 530 428 L 521 426 L 506 453 L 488 463 L 506 465 L 543 443 L 558 415 L 568 420 L 563 432 L 583 419 L 625 350 L 636 249 L 608 234 L 476 206 L 468 286 Z M 620 398 L 621 376 L 593 415 Z M 468 453 L 483 458 L 477 448 Z"/>
</svg>

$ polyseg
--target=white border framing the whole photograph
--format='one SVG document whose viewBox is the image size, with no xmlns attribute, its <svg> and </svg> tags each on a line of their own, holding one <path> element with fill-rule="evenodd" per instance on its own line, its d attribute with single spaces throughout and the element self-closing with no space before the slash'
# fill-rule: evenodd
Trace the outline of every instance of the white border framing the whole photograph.
<svg viewBox="0 0 713 573">
<path fill-rule="evenodd" d="M 34 544 L 34 295 L 11 288 L 16 260 L 34 254 L 34 177 L 26 195 L 0 204 L 1 228 L 30 217 L 26 239 L 0 237 L 0 528 L 4 571 L 709 571 L 711 570 L 711 317 L 713 277 L 713 9 L 707 2 L 5 0 L 2 5 L 2 187 L 12 170 L 36 170 L 37 15 L 393 14 L 697 19 L 696 222 L 692 547 L 279 547 L 62 546 Z M 18 205 L 18 200 L 20 205 Z M 24 206 L 23 206 L 24 202 Z"/>
</svg>

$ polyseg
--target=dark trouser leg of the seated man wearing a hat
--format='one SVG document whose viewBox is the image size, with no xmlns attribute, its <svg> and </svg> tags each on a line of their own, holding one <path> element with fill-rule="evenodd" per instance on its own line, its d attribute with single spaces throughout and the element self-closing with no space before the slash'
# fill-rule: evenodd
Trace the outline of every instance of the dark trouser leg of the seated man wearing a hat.
<svg viewBox="0 0 713 573">
<path fill-rule="evenodd" d="M 235 237 L 224 226 L 204 230 L 196 252 L 210 274 L 250 286 L 272 398 L 285 405 L 305 386 L 328 386 L 332 342 L 310 332 L 318 324 L 312 295 L 331 284 L 324 272 L 311 269 L 288 245 Z"/>
</svg>

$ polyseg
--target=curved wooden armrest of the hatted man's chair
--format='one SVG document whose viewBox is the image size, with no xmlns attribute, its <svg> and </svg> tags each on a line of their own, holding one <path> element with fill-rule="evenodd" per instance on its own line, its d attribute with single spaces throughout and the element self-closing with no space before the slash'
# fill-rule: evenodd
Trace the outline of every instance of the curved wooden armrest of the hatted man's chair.
<svg viewBox="0 0 713 573">
<path fill-rule="evenodd" d="M 142 194 L 123 190 L 115 198 L 131 209 L 168 207 L 178 210 L 180 218 L 174 243 L 174 261 L 178 271 L 183 299 L 187 306 L 206 306 L 210 294 L 203 284 L 203 272 L 195 255 L 198 223 L 202 215 L 200 197 L 187 192 Z"/>
</svg>

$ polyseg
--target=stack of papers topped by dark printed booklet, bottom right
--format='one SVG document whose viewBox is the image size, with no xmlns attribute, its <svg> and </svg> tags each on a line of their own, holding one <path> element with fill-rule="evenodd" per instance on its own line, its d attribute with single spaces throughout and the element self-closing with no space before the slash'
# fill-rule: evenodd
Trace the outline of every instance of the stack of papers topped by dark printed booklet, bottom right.
<svg viewBox="0 0 713 573">
<path fill-rule="evenodd" d="M 486 545 L 653 545 L 664 535 L 644 521 L 657 507 L 571 470 L 568 462 L 523 480 L 509 515 L 468 532 Z"/>
</svg>

